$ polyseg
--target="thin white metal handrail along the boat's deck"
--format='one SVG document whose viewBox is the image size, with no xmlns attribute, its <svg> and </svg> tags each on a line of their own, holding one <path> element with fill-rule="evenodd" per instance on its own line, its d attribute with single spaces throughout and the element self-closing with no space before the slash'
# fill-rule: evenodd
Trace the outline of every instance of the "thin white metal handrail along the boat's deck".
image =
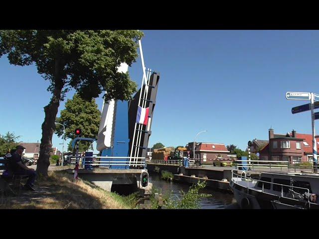
<svg viewBox="0 0 319 239">
<path fill-rule="evenodd" d="M 232 173 L 232 175 L 231 175 L 231 180 L 232 180 L 232 182 L 233 182 L 233 183 L 236 183 L 235 180 L 234 180 L 234 178 L 237 179 L 237 182 L 239 181 L 239 180 L 238 180 L 239 178 L 245 179 L 245 181 L 247 181 L 247 194 L 248 194 L 248 195 L 249 195 L 249 189 L 251 189 L 251 190 L 256 190 L 256 188 L 253 188 L 253 187 L 250 187 L 250 188 L 249 188 L 249 182 L 251 182 L 251 181 L 255 181 L 256 183 L 257 183 L 257 182 L 262 182 L 262 192 L 264 192 L 264 184 L 279 185 L 279 186 L 281 187 L 281 197 L 291 199 L 290 197 L 286 197 L 286 196 L 288 196 L 289 194 L 290 194 L 290 195 L 294 194 L 294 195 L 298 195 L 298 196 L 299 196 L 299 199 L 300 199 L 299 201 L 301 201 L 302 198 L 307 197 L 308 205 L 309 205 L 309 208 L 310 208 L 310 191 L 309 191 L 308 188 L 296 187 L 296 186 L 285 185 L 285 184 L 280 184 L 280 183 L 267 182 L 267 181 L 262 181 L 262 180 L 259 180 L 259 179 L 252 179 L 252 178 L 250 178 L 250 177 L 247 177 L 246 174 L 243 176 L 242 174 L 238 174 L 238 172 L 235 173 L 235 172 L 234 172 L 235 170 L 236 170 L 236 169 L 232 169 L 232 170 L 231 170 L 231 173 Z M 235 175 L 236 177 L 234 177 L 234 175 Z M 278 175 L 286 175 L 286 174 L 278 174 Z M 286 176 L 287 176 L 287 175 L 286 175 Z M 237 184 L 238 184 L 238 183 L 237 183 Z M 256 184 L 255 184 L 255 185 L 256 185 Z M 244 185 L 241 185 L 241 186 L 244 186 Z M 287 187 L 287 188 L 288 188 L 288 192 L 286 192 L 285 195 L 284 195 L 284 187 Z M 270 187 L 270 188 L 272 188 L 272 187 Z M 293 188 L 298 188 L 298 189 L 306 190 L 306 191 L 307 191 L 307 194 L 297 193 L 297 192 L 295 192 L 295 191 L 292 190 Z M 271 190 L 271 189 L 269 189 L 269 190 Z M 274 190 L 271 190 L 271 191 L 274 191 Z M 270 192 L 268 191 L 267 193 L 270 193 Z M 271 194 L 271 193 L 270 193 L 270 194 Z M 273 194 L 273 195 L 276 195 L 276 194 Z M 276 195 L 276 196 L 278 196 L 278 195 Z"/>
</svg>

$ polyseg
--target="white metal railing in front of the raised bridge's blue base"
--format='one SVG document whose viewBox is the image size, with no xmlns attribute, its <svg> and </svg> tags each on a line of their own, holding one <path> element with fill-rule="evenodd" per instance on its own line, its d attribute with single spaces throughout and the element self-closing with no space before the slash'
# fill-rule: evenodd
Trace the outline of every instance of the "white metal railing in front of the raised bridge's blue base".
<svg viewBox="0 0 319 239">
<path fill-rule="evenodd" d="M 135 157 L 136 161 L 129 161 L 131 157 L 102 157 L 102 156 L 67 156 L 69 164 L 92 165 L 92 166 L 144 166 L 145 157 Z M 112 159 L 127 159 L 127 161 L 117 161 Z M 140 161 L 139 161 L 140 159 Z"/>
</svg>

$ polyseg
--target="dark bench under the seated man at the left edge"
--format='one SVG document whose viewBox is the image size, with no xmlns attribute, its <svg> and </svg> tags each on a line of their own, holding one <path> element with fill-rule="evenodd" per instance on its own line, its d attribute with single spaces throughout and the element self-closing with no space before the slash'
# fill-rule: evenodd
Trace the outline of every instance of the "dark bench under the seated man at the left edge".
<svg viewBox="0 0 319 239">
<path fill-rule="evenodd" d="M 8 170 L 9 167 L 9 160 L 0 158 L 0 170 Z M 5 191 L 9 191 L 16 195 L 16 193 L 11 189 L 9 186 L 9 183 L 13 183 L 13 187 L 18 189 L 18 192 L 20 192 L 20 184 L 21 180 L 24 178 L 27 178 L 27 175 L 2 175 L 0 176 L 0 191 L 1 194 L 3 194 Z"/>
</svg>

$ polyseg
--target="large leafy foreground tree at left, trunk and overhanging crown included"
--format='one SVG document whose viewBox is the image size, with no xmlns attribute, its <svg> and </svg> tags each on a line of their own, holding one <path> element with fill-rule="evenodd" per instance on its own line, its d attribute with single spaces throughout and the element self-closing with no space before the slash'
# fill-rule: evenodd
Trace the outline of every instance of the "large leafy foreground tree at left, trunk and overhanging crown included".
<svg viewBox="0 0 319 239">
<path fill-rule="evenodd" d="M 54 120 L 66 92 L 74 88 L 86 100 L 106 91 L 105 99 L 130 100 L 137 85 L 128 73 L 119 73 L 122 62 L 137 58 L 138 30 L 0 30 L 0 57 L 10 64 L 35 64 L 50 81 L 52 98 L 44 107 L 37 172 L 47 176 Z"/>
</svg>

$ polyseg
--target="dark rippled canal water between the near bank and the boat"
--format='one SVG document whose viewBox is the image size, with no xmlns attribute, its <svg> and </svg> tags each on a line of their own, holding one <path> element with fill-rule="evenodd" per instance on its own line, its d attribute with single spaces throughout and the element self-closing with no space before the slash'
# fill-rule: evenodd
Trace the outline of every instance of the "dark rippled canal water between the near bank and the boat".
<svg viewBox="0 0 319 239">
<path fill-rule="evenodd" d="M 190 185 L 161 180 L 160 175 L 150 174 L 149 182 L 153 183 L 153 188 L 161 190 L 164 195 L 166 192 L 173 192 L 173 197 L 180 197 L 180 190 L 188 192 Z M 200 199 L 201 209 L 227 209 L 236 207 L 236 199 L 233 194 L 219 192 L 210 188 L 200 190 L 200 193 L 211 194 L 210 197 Z"/>
</svg>

